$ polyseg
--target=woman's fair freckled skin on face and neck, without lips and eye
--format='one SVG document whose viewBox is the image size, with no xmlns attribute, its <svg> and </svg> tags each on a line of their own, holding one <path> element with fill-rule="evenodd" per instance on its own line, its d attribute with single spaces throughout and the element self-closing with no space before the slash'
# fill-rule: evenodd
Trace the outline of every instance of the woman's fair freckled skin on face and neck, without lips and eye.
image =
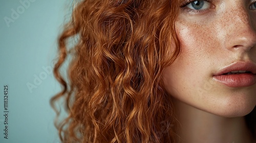
<svg viewBox="0 0 256 143">
<path fill-rule="evenodd" d="M 181 8 L 176 31 L 182 52 L 163 72 L 180 142 L 256 142 L 244 120 L 255 107 L 256 84 L 228 87 L 213 78 L 233 63 L 256 65 L 255 3 L 214 0 L 200 11 L 189 2 Z"/>
</svg>

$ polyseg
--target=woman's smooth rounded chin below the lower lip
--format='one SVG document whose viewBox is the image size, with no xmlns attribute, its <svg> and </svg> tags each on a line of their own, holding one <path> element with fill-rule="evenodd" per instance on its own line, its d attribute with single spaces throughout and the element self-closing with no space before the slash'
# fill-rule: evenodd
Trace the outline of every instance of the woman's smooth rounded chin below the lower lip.
<svg viewBox="0 0 256 143">
<path fill-rule="evenodd" d="M 233 88 L 211 92 L 204 97 L 208 103 L 208 112 L 223 117 L 240 117 L 249 114 L 256 105 L 255 89 Z M 204 103 L 206 104 L 206 103 Z"/>
</svg>

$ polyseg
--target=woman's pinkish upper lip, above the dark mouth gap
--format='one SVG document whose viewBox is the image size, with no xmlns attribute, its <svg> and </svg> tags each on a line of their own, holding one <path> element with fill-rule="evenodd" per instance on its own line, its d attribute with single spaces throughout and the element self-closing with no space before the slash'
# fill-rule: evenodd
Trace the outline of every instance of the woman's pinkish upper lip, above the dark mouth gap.
<svg viewBox="0 0 256 143">
<path fill-rule="evenodd" d="M 225 66 L 220 71 L 218 71 L 214 76 L 220 76 L 236 70 L 246 70 L 250 71 L 252 74 L 256 74 L 256 65 L 252 62 L 235 62 L 228 66 Z"/>
</svg>

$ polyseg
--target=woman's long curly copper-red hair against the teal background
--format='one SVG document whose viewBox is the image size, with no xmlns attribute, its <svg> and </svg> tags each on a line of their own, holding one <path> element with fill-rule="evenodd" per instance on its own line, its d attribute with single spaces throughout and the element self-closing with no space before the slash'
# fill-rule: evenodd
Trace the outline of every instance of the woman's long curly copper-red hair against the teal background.
<svg viewBox="0 0 256 143">
<path fill-rule="evenodd" d="M 51 105 L 56 110 L 54 103 L 65 98 L 69 113 L 55 125 L 62 142 L 175 140 L 175 117 L 161 75 L 180 53 L 178 5 L 169 0 L 86 0 L 76 5 L 58 39 L 54 67 L 63 88 Z M 68 50 L 72 37 L 78 41 Z M 171 45 L 176 45 L 172 53 Z M 66 81 L 60 67 L 68 55 Z"/>
</svg>

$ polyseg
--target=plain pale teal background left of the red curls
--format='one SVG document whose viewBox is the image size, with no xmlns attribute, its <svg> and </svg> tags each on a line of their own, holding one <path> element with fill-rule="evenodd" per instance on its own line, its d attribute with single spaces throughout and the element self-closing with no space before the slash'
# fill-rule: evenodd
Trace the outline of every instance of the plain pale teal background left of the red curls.
<svg viewBox="0 0 256 143">
<path fill-rule="evenodd" d="M 25 1 L 30 6 L 25 8 L 21 3 Z M 57 36 L 71 4 L 68 0 L 0 0 L 1 143 L 59 142 L 49 100 L 60 85 L 51 70 Z M 12 18 L 12 9 L 20 14 L 8 26 L 5 17 Z M 4 138 L 4 85 L 9 86 L 8 139 Z"/>
</svg>

